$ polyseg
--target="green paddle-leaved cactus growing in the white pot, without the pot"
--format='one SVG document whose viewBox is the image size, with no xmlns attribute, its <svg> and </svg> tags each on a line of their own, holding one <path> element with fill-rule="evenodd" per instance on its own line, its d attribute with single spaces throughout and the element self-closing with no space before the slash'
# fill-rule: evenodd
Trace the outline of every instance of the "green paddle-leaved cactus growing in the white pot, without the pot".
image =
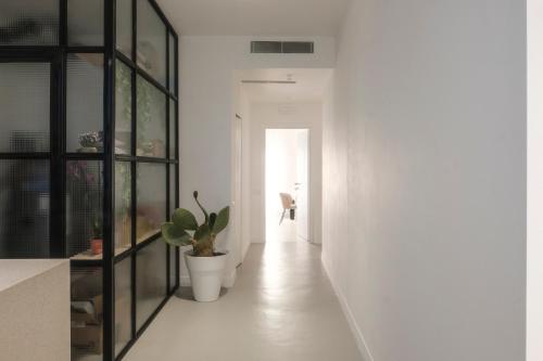
<svg viewBox="0 0 543 361">
<path fill-rule="evenodd" d="M 195 257 L 213 257 L 216 255 L 215 238 L 228 225 L 230 207 L 223 208 L 218 214 L 209 214 L 198 201 L 198 192 L 192 195 L 204 215 L 204 222 L 199 225 L 190 210 L 178 208 L 172 216 L 172 222 L 162 224 L 162 236 L 176 247 L 192 245 Z"/>
</svg>

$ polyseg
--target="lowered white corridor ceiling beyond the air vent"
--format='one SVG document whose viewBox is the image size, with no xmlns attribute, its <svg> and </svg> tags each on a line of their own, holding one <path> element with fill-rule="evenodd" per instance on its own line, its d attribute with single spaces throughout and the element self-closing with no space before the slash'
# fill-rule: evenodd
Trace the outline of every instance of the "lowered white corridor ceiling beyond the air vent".
<svg viewBox="0 0 543 361">
<path fill-rule="evenodd" d="M 242 83 L 252 103 L 321 101 L 331 69 L 251 69 L 240 72 L 241 80 L 288 80 L 296 83 Z"/>
</svg>

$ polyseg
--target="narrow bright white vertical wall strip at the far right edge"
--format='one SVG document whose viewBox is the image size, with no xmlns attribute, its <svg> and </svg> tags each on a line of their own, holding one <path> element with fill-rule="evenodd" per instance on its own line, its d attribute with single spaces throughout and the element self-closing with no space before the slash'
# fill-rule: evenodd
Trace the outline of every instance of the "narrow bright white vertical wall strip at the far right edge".
<svg viewBox="0 0 543 361">
<path fill-rule="evenodd" d="M 527 361 L 543 360 L 543 1 L 528 0 Z"/>
</svg>

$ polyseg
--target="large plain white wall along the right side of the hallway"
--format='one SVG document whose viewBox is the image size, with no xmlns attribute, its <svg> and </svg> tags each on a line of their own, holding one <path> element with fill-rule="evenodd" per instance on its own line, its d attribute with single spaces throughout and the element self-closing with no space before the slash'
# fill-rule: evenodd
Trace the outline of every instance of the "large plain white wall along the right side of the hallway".
<svg viewBox="0 0 543 361">
<path fill-rule="evenodd" d="M 525 40 L 522 1 L 352 3 L 323 259 L 367 360 L 525 360 Z"/>
</svg>

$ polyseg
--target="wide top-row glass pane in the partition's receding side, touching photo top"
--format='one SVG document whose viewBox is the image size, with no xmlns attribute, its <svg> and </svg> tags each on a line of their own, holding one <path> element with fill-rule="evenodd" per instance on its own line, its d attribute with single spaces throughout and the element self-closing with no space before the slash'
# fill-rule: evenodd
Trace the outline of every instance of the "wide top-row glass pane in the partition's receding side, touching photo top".
<svg viewBox="0 0 543 361">
<path fill-rule="evenodd" d="M 149 0 L 138 0 L 138 65 L 166 86 L 166 26 Z"/>
</svg>

